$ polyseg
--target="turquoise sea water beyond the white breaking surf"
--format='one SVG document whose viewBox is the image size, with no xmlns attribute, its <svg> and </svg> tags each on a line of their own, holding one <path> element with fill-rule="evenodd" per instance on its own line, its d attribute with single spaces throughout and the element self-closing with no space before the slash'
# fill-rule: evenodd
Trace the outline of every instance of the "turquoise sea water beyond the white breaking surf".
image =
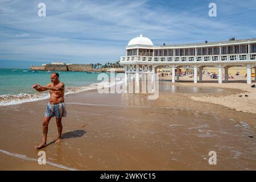
<svg viewBox="0 0 256 182">
<path fill-rule="evenodd" d="M 0 69 L 0 96 L 20 93 L 36 93 L 31 86 L 35 83 L 46 85 L 51 82 L 50 75 L 45 71 L 38 72 L 23 72 L 26 69 Z M 12 72 L 13 71 L 13 72 Z M 28 70 L 29 71 L 29 70 Z M 65 86 L 87 86 L 97 81 L 99 73 L 86 72 L 58 72 L 60 81 L 64 82 Z"/>
</svg>

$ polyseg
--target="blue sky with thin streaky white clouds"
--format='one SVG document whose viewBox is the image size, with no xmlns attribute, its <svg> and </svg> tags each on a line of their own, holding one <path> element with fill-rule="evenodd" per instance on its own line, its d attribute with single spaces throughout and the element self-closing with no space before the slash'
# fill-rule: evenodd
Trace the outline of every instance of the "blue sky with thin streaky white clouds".
<svg viewBox="0 0 256 182">
<path fill-rule="evenodd" d="M 46 3 L 46 17 L 38 4 Z M 210 17 L 208 5 L 217 5 Z M 256 1 L 0 0 L 0 67 L 13 61 L 106 63 L 143 34 L 155 45 L 256 38 Z"/>
</svg>

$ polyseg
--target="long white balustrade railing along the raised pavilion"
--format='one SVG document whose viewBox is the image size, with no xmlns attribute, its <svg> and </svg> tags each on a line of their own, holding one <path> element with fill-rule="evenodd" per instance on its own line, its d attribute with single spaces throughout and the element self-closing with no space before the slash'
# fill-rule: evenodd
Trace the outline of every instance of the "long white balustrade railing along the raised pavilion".
<svg viewBox="0 0 256 182">
<path fill-rule="evenodd" d="M 143 62 L 216 62 L 216 61 L 256 61 L 256 53 L 237 55 L 207 55 L 207 56 L 122 56 L 123 61 Z"/>
</svg>

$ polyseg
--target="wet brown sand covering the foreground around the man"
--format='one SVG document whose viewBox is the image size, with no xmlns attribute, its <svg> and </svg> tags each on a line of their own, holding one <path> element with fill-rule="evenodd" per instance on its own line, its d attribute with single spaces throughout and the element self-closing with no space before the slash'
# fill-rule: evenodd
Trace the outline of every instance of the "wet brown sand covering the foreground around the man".
<svg viewBox="0 0 256 182">
<path fill-rule="evenodd" d="M 79 170 L 255 170 L 256 114 L 192 99 L 245 90 L 189 84 L 160 81 L 158 100 L 97 90 L 69 94 L 64 140 L 41 150 L 47 162 Z M 0 107 L 1 150 L 38 159 L 34 146 L 42 139 L 47 102 Z M 56 137 L 53 118 L 48 143 Z M 208 163 L 209 151 L 217 152 L 217 165 Z M 0 162 L 1 170 L 64 169 L 2 152 Z"/>
</svg>

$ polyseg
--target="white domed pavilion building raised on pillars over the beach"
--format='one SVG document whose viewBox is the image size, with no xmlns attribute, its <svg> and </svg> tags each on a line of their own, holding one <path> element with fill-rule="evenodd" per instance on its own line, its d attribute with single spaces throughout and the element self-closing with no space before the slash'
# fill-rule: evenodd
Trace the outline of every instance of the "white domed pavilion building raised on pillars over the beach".
<svg viewBox="0 0 256 182">
<path fill-rule="evenodd" d="M 222 83 L 222 68 L 225 69 L 225 81 L 228 81 L 230 67 L 247 68 L 247 84 L 251 84 L 251 69 L 256 69 L 256 39 L 233 40 L 202 44 L 177 46 L 154 46 L 152 41 L 142 34 L 131 39 L 126 46 L 126 56 L 121 57 L 125 65 L 125 74 L 130 81 L 135 73 L 139 82 L 140 73 L 151 73 L 155 76 L 156 67 L 168 65 L 172 68 L 172 82 L 175 82 L 175 69 L 190 66 L 194 69 L 194 82 L 202 81 L 204 67 L 218 68 L 218 83 Z M 179 74 L 176 76 L 179 81 Z M 256 77 L 255 77 L 256 81 Z"/>
</svg>

